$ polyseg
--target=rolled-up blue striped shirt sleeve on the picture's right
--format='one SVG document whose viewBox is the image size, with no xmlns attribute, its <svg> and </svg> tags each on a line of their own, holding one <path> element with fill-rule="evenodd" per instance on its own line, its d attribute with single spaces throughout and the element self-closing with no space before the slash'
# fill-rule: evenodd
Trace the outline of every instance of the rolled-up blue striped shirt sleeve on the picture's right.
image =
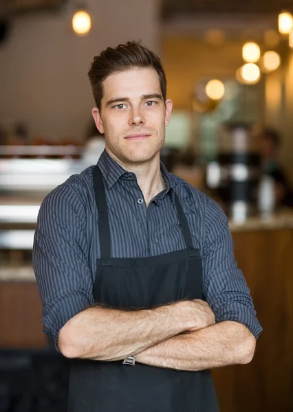
<svg viewBox="0 0 293 412">
<path fill-rule="evenodd" d="M 207 198 L 203 251 L 203 290 L 216 322 L 237 321 L 257 339 L 261 325 L 250 290 L 234 257 L 228 219 L 219 205 Z"/>
</svg>

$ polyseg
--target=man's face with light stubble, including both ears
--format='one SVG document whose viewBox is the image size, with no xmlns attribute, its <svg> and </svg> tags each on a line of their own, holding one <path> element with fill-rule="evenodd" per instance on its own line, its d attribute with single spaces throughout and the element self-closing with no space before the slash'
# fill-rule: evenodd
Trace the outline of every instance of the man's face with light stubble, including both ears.
<svg viewBox="0 0 293 412">
<path fill-rule="evenodd" d="M 96 126 L 105 133 L 109 154 L 121 163 L 145 163 L 159 154 L 169 124 L 171 100 L 163 100 L 158 73 L 134 68 L 113 73 L 103 82 Z"/>
</svg>

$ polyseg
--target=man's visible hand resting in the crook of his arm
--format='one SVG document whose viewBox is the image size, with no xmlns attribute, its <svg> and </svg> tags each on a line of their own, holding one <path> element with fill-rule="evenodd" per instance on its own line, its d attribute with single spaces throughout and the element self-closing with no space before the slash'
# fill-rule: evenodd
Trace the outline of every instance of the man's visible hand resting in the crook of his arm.
<svg viewBox="0 0 293 412">
<path fill-rule="evenodd" d="M 213 310 L 201 299 L 182 301 L 180 302 L 180 308 L 184 319 L 188 322 L 186 325 L 187 332 L 196 332 L 208 328 L 210 325 L 215 325 Z"/>
</svg>

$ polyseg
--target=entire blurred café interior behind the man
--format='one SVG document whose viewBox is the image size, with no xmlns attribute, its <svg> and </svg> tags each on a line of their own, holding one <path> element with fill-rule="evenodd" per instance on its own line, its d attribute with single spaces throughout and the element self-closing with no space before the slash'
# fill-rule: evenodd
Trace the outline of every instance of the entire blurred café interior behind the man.
<svg viewBox="0 0 293 412">
<path fill-rule="evenodd" d="M 32 239 L 44 196 L 95 164 L 87 71 L 133 39 L 162 58 L 162 161 L 224 209 L 263 326 L 249 365 L 213 371 L 221 411 L 293 411 L 293 1 L 0 1 L 0 411 L 66 411 L 42 334 Z"/>
</svg>

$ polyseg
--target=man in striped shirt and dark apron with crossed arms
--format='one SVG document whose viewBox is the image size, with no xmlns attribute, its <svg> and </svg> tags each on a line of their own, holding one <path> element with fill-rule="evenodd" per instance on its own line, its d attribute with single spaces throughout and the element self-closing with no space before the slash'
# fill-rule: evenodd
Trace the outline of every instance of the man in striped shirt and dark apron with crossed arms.
<svg viewBox="0 0 293 412">
<path fill-rule="evenodd" d="M 218 411 L 209 369 L 250 362 L 261 332 L 227 218 L 160 164 L 158 56 L 109 47 L 89 79 L 106 149 L 45 198 L 33 253 L 44 331 L 72 358 L 68 411 Z"/>
</svg>

